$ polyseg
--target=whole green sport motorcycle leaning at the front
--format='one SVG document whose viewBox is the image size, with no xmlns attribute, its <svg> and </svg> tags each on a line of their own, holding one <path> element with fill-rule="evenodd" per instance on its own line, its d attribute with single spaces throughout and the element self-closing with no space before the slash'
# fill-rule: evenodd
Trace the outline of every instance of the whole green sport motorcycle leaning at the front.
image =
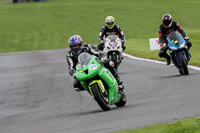
<svg viewBox="0 0 200 133">
<path fill-rule="evenodd" d="M 112 104 L 117 107 L 126 104 L 124 91 L 119 90 L 116 79 L 98 57 L 81 53 L 76 65 L 76 78 L 104 111 L 110 110 Z"/>
</svg>

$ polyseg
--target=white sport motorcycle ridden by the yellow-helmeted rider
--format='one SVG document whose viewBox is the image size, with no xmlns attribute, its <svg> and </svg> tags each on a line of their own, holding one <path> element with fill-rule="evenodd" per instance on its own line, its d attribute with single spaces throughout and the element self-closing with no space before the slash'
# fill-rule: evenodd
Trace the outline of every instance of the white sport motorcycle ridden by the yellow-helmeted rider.
<svg viewBox="0 0 200 133">
<path fill-rule="evenodd" d="M 116 35 L 109 35 L 105 38 L 103 51 L 106 53 L 107 58 L 114 62 L 114 67 L 117 70 L 123 60 L 123 48 L 121 39 Z"/>
</svg>

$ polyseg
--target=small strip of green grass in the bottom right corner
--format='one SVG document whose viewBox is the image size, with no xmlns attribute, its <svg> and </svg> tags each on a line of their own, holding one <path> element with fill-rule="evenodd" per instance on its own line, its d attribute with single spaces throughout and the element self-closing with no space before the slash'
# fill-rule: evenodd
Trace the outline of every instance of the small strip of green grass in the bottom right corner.
<svg viewBox="0 0 200 133">
<path fill-rule="evenodd" d="M 174 123 L 156 124 L 115 133 L 200 133 L 200 118 L 188 118 Z"/>
</svg>

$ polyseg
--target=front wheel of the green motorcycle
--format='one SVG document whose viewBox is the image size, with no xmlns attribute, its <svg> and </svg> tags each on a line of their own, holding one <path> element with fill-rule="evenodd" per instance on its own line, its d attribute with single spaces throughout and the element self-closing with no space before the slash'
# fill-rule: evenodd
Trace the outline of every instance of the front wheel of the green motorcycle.
<svg viewBox="0 0 200 133">
<path fill-rule="evenodd" d="M 99 104 L 99 106 L 104 111 L 110 110 L 110 102 L 109 102 L 108 95 L 103 94 L 101 89 L 96 83 L 91 85 L 91 91 L 92 91 L 92 94 L 94 95 L 95 100 Z"/>
</svg>

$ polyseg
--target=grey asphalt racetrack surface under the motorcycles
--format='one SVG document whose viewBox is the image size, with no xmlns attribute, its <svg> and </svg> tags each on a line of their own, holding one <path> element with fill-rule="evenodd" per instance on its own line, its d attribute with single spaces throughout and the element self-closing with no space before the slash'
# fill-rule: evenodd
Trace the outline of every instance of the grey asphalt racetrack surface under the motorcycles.
<svg viewBox="0 0 200 133">
<path fill-rule="evenodd" d="M 127 104 L 102 111 L 73 89 L 67 49 L 0 54 L 0 132 L 107 133 L 200 116 L 200 71 L 124 58 Z"/>
</svg>

